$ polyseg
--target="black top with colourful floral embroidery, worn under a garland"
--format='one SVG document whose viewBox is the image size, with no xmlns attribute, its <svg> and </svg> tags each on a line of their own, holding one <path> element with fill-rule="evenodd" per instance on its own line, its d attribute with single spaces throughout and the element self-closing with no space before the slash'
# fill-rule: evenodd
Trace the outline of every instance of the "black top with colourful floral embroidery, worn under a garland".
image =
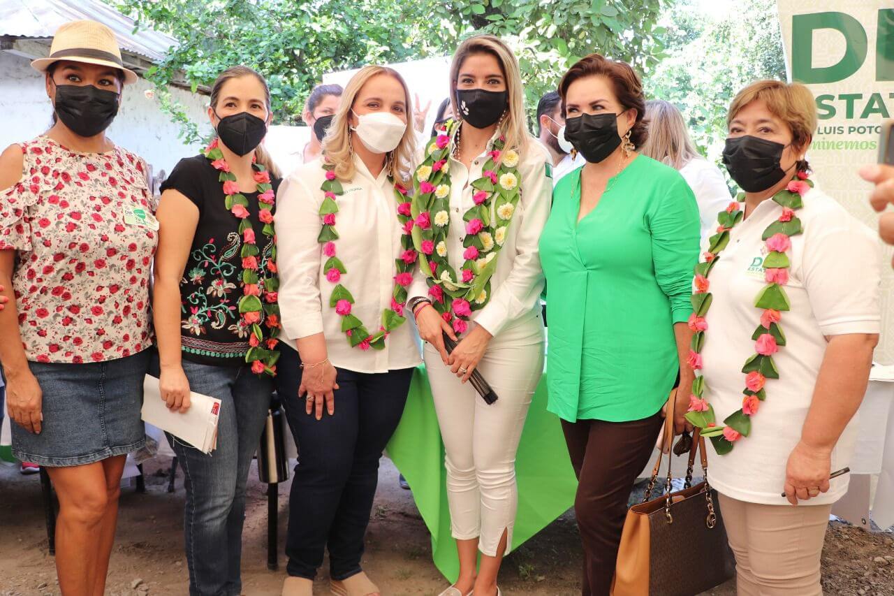
<svg viewBox="0 0 894 596">
<path fill-rule="evenodd" d="M 198 226 L 180 282 L 183 358 L 242 366 L 249 351 L 249 328 L 242 323 L 237 307 L 242 295 L 240 220 L 223 204 L 223 183 L 218 175 L 204 155 L 184 158 L 161 190 L 179 191 L 198 207 Z M 276 192 L 281 179 L 270 182 Z M 257 231 L 258 273 L 263 284 L 264 279 L 276 275 L 267 268 L 274 241 L 260 234 L 264 224 L 258 218 L 258 193 L 242 194 L 249 200 L 249 221 Z M 272 209 L 275 212 L 275 205 Z"/>
</svg>

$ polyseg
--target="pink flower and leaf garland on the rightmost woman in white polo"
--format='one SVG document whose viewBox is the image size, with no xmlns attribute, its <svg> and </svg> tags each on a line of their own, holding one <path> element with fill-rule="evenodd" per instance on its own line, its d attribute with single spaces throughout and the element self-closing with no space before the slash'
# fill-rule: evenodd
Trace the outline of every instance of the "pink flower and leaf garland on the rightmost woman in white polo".
<svg viewBox="0 0 894 596">
<path fill-rule="evenodd" d="M 789 296 L 783 287 L 789 283 L 790 237 L 803 232 L 796 211 L 804 206 L 801 197 L 813 186 L 814 183 L 807 180 L 805 172 L 798 172 L 785 189 L 772 197 L 772 200 L 782 207 L 782 213 L 776 221 L 767 226 L 762 235 L 769 251 L 763 260 L 764 279 L 767 285 L 764 285 L 755 297 L 755 307 L 762 312 L 760 323 L 751 336 L 755 340 L 755 354 L 749 357 L 742 367 L 742 372 L 745 373 L 742 407 L 727 416 L 722 425 L 718 425 L 714 419 L 713 406 L 705 397 L 707 387 L 704 376 L 699 374 L 692 383 L 692 395 L 689 397 L 686 418 L 701 429 L 702 436 L 711 439 L 714 450 L 720 456 L 730 453 L 736 441 L 751 433 L 751 419 L 767 396 L 764 387 L 766 380 L 780 378 L 772 355 L 786 345 L 780 321 L 781 313 L 791 310 Z M 717 234 L 711 236 L 708 251 L 704 253 L 703 260 L 696 265 L 694 282 L 696 290 L 692 294 L 693 313 L 688 321 L 689 328 L 694 332 L 688 363 L 696 371 L 701 370 L 704 364 L 701 352 L 708 328 L 704 317 L 713 301 L 713 294 L 708 292 L 710 287 L 708 276 L 720 259 L 721 251 L 730 243 L 730 230 L 744 219 L 742 200 L 744 195 L 739 193 L 737 200 L 732 201 L 725 211 L 718 214 Z"/>
</svg>

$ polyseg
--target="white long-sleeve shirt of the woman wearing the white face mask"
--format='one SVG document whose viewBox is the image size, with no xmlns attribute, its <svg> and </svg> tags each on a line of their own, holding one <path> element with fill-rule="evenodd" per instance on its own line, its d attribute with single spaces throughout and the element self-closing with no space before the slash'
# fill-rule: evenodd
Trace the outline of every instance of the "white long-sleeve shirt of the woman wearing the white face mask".
<svg viewBox="0 0 894 596">
<path fill-rule="evenodd" d="M 401 224 L 397 200 L 387 172 L 373 177 L 354 158 L 353 179 L 342 180 L 336 198 L 335 256 L 347 273 L 338 283 L 354 298 L 351 314 L 375 334 L 382 311 L 391 307 L 395 260 L 401 256 Z M 276 201 L 276 262 L 279 268 L 279 306 L 283 333 L 290 343 L 323 333 L 329 362 L 357 372 L 387 372 L 422 362 L 416 328 L 405 322 L 385 339 L 384 350 L 350 347 L 342 332 L 342 316 L 329 306 L 333 288 L 326 279 L 323 244 L 317 236 L 324 200 L 325 170 L 319 159 L 299 166 L 280 188 Z M 409 311 L 405 313 L 410 316 Z"/>
</svg>

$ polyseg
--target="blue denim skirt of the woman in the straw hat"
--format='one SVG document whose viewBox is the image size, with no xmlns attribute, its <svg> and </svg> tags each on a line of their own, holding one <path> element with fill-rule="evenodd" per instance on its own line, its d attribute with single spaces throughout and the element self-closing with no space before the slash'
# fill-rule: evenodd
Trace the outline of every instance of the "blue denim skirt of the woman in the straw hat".
<svg viewBox="0 0 894 596">
<path fill-rule="evenodd" d="M 151 350 L 105 362 L 29 362 L 43 393 L 40 434 L 14 421 L 13 456 L 48 467 L 92 464 L 146 443 L 140 418 Z"/>
</svg>

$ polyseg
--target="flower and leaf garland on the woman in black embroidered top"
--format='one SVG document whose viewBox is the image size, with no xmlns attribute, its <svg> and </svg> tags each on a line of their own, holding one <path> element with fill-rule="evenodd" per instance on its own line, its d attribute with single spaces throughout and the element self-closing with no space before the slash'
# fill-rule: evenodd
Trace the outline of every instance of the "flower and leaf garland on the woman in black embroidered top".
<svg viewBox="0 0 894 596">
<path fill-rule="evenodd" d="M 276 361 L 279 360 L 279 351 L 274 349 L 279 343 L 276 336 L 279 335 L 279 306 L 277 305 L 277 290 L 279 279 L 276 277 L 276 245 L 274 233 L 274 187 L 270 183 L 270 173 L 266 168 L 252 158 L 251 168 L 254 170 L 255 183 L 257 184 L 257 201 L 259 207 L 258 218 L 264 224 L 261 234 L 274 239 L 274 246 L 270 259 L 262 268 L 263 255 L 257 248 L 255 229 L 249 219 L 249 200 L 239 192 L 239 183 L 236 175 L 230 171 L 230 166 L 223 158 L 223 151 L 218 147 L 219 140 L 215 139 L 205 149 L 205 157 L 211 161 L 215 170 L 220 172 L 218 181 L 223 183 L 223 205 L 234 217 L 239 219 L 239 234 L 242 236 L 242 296 L 238 307 L 241 324 L 249 329 L 249 351 L 245 354 L 245 362 L 251 364 L 251 371 L 255 374 L 276 374 Z M 260 258 L 258 258 L 260 257 Z M 263 281 L 262 281 L 263 278 Z M 261 300 L 263 298 L 263 302 Z M 267 328 L 266 336 L 264 328 Z"/>
</svg>

